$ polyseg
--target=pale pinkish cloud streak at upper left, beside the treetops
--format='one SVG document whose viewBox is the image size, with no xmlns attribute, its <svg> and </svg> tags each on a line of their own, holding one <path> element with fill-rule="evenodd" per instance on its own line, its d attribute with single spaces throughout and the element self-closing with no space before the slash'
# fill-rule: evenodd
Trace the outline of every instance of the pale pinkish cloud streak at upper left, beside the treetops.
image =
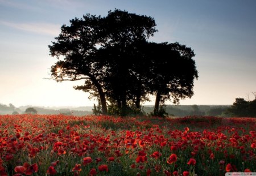
<svg viewBox="0 0 256 176">
<path fill-rule="evenodd" d="M 59 24 L 51 23 L 11 23 L 0 20 L 0 24 L 22 31 L 38 33 L 40 35 L 57 36 L 60 33 Z"/>
</svg>

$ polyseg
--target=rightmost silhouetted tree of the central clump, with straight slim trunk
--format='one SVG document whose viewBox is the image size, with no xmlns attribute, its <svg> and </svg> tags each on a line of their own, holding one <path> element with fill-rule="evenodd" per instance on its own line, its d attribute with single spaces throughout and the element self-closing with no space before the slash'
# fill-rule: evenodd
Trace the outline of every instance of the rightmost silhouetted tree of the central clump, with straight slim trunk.
<svg viewBox="0 0 256 176">
<path fill-rule="evenodd" d="M 198 78 L 195 54 L 191 48 L 178 42 L 167 42 L 147 46 L 151 68 L 148 72 L 151 93 L 155 95 L 154 114 L 158 114 L 159 105 L 166 100 L 174 104 L 193 95 L 193 81 Z"/>
</svg>

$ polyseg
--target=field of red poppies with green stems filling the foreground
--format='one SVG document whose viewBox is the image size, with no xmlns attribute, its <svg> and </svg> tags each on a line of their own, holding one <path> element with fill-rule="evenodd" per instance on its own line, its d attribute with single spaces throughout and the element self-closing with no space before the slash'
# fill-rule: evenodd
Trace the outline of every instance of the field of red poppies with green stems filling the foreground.
<svg viewBox="0 0 256 176">
<path fill-rule="evenodd" d="M 256 172 L 256 118 L 0 115 L 0 175 Z"/>
</svg>

